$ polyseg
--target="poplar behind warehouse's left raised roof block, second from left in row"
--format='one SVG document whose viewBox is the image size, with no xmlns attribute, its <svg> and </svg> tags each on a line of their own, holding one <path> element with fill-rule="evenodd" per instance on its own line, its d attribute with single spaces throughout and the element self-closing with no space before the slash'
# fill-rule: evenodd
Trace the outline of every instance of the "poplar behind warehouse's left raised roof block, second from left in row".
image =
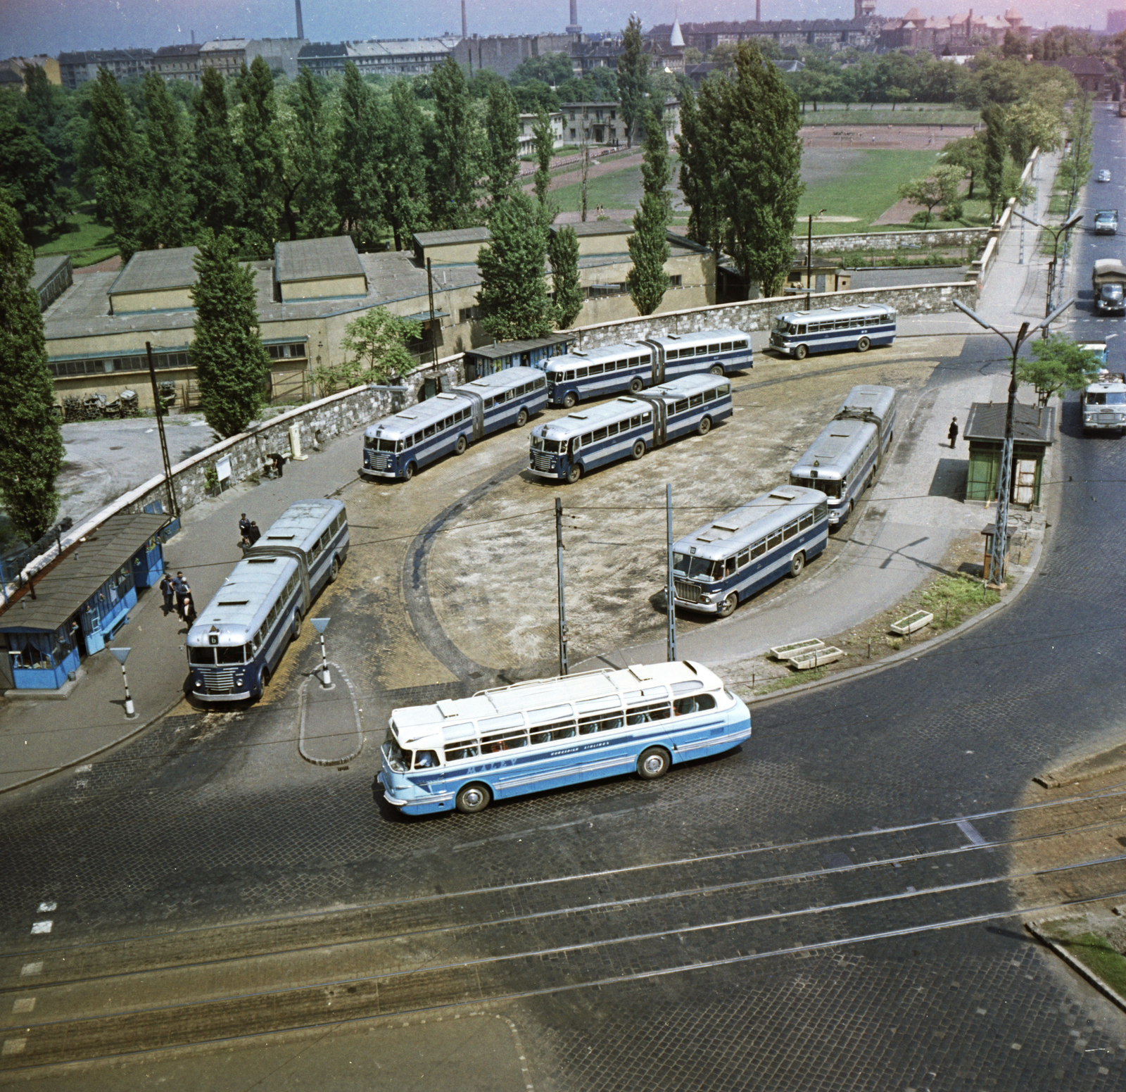
<svg viewBox="0 0 1126 1092">
<path fill-rule="evenodd" d="M 155 72 L 144 78 L 144 101 L 149 192 L 140 225 L 141 242 L 151 250 L 182 247 L 190 232 L 191 195 L 188 193 L 180 112 Z"/>
</svg>

